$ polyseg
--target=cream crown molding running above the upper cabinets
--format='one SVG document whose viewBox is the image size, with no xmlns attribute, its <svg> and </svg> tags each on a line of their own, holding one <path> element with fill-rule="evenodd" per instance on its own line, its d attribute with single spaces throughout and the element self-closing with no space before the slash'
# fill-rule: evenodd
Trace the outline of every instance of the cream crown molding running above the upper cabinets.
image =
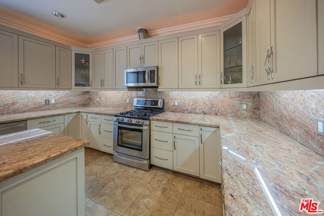
<svg viewBox="0 0 324 216">
<path fill-rule="evenodd" d="M 194 30 L 194 29 L 199 29 L 199 28 L 204 28 L 204 27 L 211 27 L 211 26 L 216 26 L 222 24 L 224 21 L 228 20 L 232 15 L 228 16 L 223 16 L 223 17 L 217 17 L 217 18 L 212 18 L 208 20 L 202 20 L 198 22 L 192 22 L 188 24 L 183 24 L 183 25 L 178 25 L 178 26 L 173 26 L 169 28 L 164 28 L 164 29 L 158 29 L 158 30 L 153 30 L 149 31 L 150 37 L 156 37 L 156 36 L 162 36 L 162 35 L 168 35 L 168 34 L 173 34 L 173 33 L 178 33 L 182 31 L 189 31 L 189 30 Z M 138 40 L 138 35 L 129 35 L 126 37 L 119 37 L 115 39 L 110 39 L 110 40 L 105 40 L 101 42 L 97 42 L 94 44 L 84 44 L 83 42 L 79 42 L 77 40 L 73 40 L 69 37 L 62 36 L 60 34 L 57 34 L 55 32 L 46 30 L 44 28 L 26 23 L 24 21 L 15 19 L 13 17 L 4 15 L 0 13 L 0 24 L 21 30 L 33 35 L 37 35 L 40 37 L 44 37 L 50 40 L 54 40 L 56 42 L 60 42 L 61 44 L 65 44 L 71 47 L 79 47 L 79 48 L 90 48 L 90 49 L 95 49 L 95 48 L 101 48 L 101 47 L 106 47 L 110 45 L 115 45 L 115 44 L 122 44 L 125 42 L 130 42 L 130 41 L 135 41 Z"/>
</svg>

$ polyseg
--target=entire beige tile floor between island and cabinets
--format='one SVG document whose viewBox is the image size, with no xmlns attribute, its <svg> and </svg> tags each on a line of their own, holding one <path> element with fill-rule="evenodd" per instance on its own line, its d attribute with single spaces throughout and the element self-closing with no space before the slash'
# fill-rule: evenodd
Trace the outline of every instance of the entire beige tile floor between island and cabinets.
<svg viewBox="0 0 324 216">
<path fill-rule="evenodd" d="M 86 215 L 223 215 L 220 184 L 86 148 Z"/>
</svg>

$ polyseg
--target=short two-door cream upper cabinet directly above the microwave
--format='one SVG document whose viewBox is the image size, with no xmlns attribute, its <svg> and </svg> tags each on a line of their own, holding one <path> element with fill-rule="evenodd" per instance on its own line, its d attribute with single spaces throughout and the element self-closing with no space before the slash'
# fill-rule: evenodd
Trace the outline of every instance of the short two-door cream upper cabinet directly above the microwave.
<svg viewBox="0 0 324 216">
<path fill-rule="evenodd" d="M 157 42 L 127 47 L 127 68 L 156 66 Z"/>
</svg>

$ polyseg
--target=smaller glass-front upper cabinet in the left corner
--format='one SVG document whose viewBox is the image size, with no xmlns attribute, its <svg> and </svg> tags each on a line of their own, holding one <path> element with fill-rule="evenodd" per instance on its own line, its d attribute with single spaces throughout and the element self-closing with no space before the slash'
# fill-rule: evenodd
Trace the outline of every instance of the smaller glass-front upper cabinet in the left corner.
<svg viewBox="0 0 324 216">
<path fill-rule="evenodd" d="M 72 88 L 92 88 L 92 53 L 72 51 Z"/>
</svg>

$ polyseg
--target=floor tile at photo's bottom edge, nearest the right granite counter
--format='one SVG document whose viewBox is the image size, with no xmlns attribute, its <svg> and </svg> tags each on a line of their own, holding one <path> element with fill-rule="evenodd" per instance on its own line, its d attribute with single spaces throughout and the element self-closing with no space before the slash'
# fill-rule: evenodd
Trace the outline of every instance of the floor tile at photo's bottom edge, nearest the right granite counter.
<svg viewBox="0 0 324 216">
<path fill-rule="evenodd" d="M 222 216 L 223 209 L 222 207 L 213 205 L 202 200 L 198 200 L 186 195 L 181 195 L 175 216 L 179 215 L 214 215 Z"/>
</svg>

